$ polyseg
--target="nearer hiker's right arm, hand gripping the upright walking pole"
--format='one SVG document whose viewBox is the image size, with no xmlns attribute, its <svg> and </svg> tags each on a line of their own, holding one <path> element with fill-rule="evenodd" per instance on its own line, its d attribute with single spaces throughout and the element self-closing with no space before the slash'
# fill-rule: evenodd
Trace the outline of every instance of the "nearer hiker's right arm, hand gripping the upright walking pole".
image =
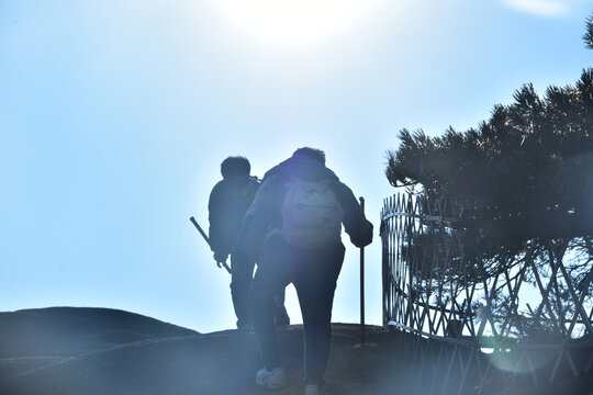
<svg viewBox="0 0 593 395">
<path fill-rule="evenodd" d="M 365 217 L 362 207 L 353 191 L 342 182 L 335 185 L 339 204 L 344 208 L 344 228 L 356 247 L 365 247 L 372 242 L 372 224 Z"/>
</svg>

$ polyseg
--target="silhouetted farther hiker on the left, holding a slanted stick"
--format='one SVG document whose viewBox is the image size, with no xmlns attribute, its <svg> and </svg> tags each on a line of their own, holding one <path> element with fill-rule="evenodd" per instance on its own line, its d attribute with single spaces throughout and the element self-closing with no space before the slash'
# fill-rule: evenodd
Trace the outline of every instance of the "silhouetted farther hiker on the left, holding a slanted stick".
<svg viewBox="0 0 593 395">
<path fill-rule="evenodd" d="M 250 171 L 251 165 L 244 157 L 228 157 L 221 163 L 223 180 L 214 185 L 208 203 L 210 247 L 214 252 L 216 262 L 226 261 L 231 252 L 231 246 L 245 217 L 245 212 L 251 204 L 259 188 L 257 177 L 250 177 Z M 231 296 L 237 316 L 237 328 L 244 330 L 250 328 L 247 301 L 254 275 L 254 258 L 231 257 Z M 277 297 L 277 303 L 278 324 L 290 324 L 283 306 L 283 293 Z"/>
</svg>

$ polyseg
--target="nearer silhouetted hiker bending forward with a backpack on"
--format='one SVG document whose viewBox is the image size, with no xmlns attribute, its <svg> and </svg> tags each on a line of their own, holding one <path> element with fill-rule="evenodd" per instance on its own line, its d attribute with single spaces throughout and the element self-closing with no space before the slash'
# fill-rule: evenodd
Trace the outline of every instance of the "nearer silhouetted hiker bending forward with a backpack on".
<svg viewBox="0 0 593 395">
<path fill-rule="evenodd" d="M 344 261 L 342 224 L 357 247 L 372 241 L 367 221 L 351 190 L 325 167 L 325 154 L 299 148 L 268 171 L 242 227 L 234 253 L 258 258 L 251 282 L 251 324 L 264 369 L 256 382 L 270 388 L 286 384 L 273 326 L 273 295 L 292 283 L 304 324 L 305 394 L 324 394 L 324 374 L 332 342 L 332 305 Z"/>
</svg>

